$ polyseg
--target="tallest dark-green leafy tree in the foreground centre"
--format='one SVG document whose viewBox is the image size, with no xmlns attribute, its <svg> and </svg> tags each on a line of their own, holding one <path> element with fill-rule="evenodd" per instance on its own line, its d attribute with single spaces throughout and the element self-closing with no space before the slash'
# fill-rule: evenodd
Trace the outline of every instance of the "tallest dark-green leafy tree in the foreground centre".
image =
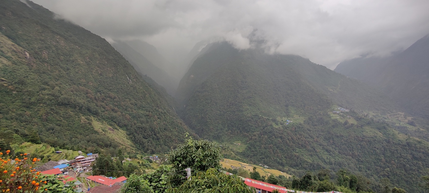
<svg viewBox="0 0 429 193">
<path fill-rule="evenodd" d="M 194 173 L 210 168 L 221 169 L 221 148 L 208 140 L 194 140 L 189 136 L 170 152 L 167 159 L 177 171 L 188 167 Z"/>
</svg>

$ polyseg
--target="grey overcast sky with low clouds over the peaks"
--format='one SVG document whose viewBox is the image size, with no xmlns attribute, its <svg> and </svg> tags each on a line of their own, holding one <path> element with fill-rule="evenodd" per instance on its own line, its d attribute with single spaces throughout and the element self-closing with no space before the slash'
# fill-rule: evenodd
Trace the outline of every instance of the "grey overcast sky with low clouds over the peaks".
<svg viewBox="0 0 429 193">
<path fill-rule="evenodd" d="M 34 0 L 106 39 L 142 39 L 168 60 L 201 40 L 298 54 L 330 69 L 402 50 L 429 33 L 429 0 Z"/>
</svg>

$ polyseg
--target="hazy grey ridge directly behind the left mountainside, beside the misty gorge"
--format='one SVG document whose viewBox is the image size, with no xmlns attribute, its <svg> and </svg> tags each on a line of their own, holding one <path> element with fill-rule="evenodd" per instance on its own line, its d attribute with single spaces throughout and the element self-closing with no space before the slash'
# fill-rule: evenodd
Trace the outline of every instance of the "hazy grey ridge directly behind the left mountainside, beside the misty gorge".
<svg viewBox="0 0 429 193">
<path fill-rule="evenodd" d="M 163 86 L 168 93 L 175 93 L 178 81 L 172 78 L 172 76 L 169 75 L 169 73 L 167 73 L 164 69 L 161 69 L 159 66 L 156 66 L 154 63 L 149 61 L 145 56 L 143 56 L 139 51 L 136 51 L 127 42 L 115 40 L 115 42 L 111 44 L 125 57 L 125 59 L 127 59 L 134 66 L 137 72 L 154 79 L 154 81 Z"/>
</svg>

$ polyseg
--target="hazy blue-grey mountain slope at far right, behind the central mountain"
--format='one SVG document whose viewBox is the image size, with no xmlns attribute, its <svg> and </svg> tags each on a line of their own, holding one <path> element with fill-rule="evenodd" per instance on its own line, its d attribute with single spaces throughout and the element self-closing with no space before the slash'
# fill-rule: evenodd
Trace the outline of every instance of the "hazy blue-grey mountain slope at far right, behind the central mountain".
<svg viewBox="0 0 429 193">
<path fill-rule="evenodd" d="M 429 35 L 391 57 L 344 61 L 335 71 L 381 88 L 408 113 L 429 119 Z"/>
</svg>

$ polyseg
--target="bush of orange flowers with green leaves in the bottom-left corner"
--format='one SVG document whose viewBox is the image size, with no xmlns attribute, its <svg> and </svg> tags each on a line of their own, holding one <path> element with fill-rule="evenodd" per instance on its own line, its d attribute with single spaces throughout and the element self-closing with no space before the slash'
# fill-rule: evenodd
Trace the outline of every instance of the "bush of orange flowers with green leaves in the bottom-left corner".
<svg viewBox="0 0 429 193">
<path fill-rule="evenodd" d="M 61 176 L 41 175 L 33 169 L 37 158 L 27 154 L 12 157 L 10 150 L 0 152 L 0 192 L 7 193 L 73 193 L 74 181 L 65 182 Z"/>
</svg>

